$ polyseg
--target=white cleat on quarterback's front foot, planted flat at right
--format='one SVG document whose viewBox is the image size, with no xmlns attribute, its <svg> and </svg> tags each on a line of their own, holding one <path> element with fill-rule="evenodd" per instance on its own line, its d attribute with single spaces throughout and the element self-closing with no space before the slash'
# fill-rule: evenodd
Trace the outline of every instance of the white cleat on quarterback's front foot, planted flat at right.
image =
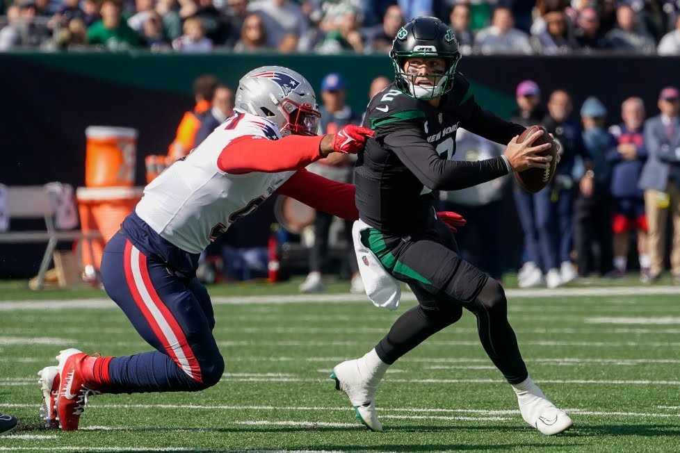
<svg viewBox="0 0 680 453">
<path fill-rule="evenodd" d="M 519 390 L 513 386 L 517 394 L 519 412 L 525 422 L 546 436 L 559 434 L 572 427 L 573 422 L 569 415 L 556 408 L 531 379 L 527 378 L 527 381 L 518 385 L 524 388 Z"/>
</svg>

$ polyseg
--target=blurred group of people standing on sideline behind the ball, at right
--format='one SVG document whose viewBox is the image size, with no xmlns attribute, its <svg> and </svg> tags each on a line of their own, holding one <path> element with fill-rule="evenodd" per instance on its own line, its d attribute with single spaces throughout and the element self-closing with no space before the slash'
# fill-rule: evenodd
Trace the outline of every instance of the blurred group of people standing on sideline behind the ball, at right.
<svg viewBox="0 0 680 453">
<path fill-rule="evenodd" d="M 578 277 L 619 278 L 633 270 L 642 283 L 654 283 L 667 267 L 680 284 L 680 90 L 662 88 L 649 113 L 638 97 L 622 99 L 616 112 L 597 97 L 574 106 L 569 92 L 544 96 L 533 81 L 519 83 L 516 96 L 512 121 L 542 124 L 560 142 L 558 172 L 535 194 L 511 178 L 442 193 L 444 207 L 469 220 L 457 233 L 462 255 L 501 278 L 502 247 L 494 241 L 505 229 L 496 219 L 508 192 L 500 181 L 512 184 L 524 233 L 520 287 L 556 288 Z M 464 160 L 503 150 L 463 130 L 456 144 Z"/>
</svg>

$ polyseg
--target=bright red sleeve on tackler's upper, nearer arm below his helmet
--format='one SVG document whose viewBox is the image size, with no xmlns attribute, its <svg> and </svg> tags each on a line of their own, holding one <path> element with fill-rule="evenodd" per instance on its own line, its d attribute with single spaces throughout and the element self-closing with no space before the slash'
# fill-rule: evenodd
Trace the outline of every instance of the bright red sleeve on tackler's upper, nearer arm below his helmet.
<svg viewBox="0 0 680 453">
<path fill-rule="evenodd" d="M 288 135 L 280 140 L 243 135 L 222 149 L 217 165 L 230 174 L 298 170 L 321 158 L 318 151 L 322 139 L 323 135 Z"/>
</svg>

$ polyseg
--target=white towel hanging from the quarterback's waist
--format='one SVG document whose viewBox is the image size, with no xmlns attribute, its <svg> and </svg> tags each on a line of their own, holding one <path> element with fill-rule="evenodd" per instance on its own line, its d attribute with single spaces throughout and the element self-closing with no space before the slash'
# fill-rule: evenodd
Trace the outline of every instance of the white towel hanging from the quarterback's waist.
<svg viewBox="0 0 680 453">
<path fill-rule="evenodd" d="M 384 268 L 378 256 L 375 256 L 369 247 L 362 243 L 362 231 L 371 228 L 362 220 L 354 222 L 352 238 L 354 250 L 359 263 L 359 273 L 364 281 L 366 295 L 369 296 L 373 305 L 387 308 L 389 311 L 396 310 L 401 298 L 401 285 Z"/>
</svg>

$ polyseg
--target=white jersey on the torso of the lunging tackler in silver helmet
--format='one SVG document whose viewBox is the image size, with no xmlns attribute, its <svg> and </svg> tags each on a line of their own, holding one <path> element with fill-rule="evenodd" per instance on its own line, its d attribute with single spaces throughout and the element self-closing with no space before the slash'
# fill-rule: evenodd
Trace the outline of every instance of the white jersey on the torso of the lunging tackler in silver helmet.
<svg viewBox="0 0 680 453">
<path fill-rule="evenodd" d="M 156 233 L 190 253 L 202 252 L 239 218 L 248 215 L 295 171 L 228 174 L 218 158 L 229 142 L 257 135 L 252 145 L 281 138 L 263 117 L 240 114 L 220 124 L 191 154 L 177 160 L 144 189 L 135 209 Z M 227 151 L 229 150 L 227 149 Z"/>
</svg>

